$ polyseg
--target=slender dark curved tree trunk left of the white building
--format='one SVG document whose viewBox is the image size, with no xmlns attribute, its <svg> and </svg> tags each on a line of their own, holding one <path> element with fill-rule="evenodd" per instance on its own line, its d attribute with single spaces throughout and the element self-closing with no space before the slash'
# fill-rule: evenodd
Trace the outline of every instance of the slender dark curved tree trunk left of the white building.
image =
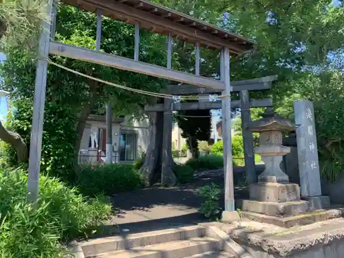
<svg viewBox="0 0 344 258">
<path fill-rule="evenodd" d="M 89 115 L 91 114 L 92 108 L 96 105 L 97 101 L 97 91 L 98 91 L 98 83 L 94 80 L 89 80 L 89 99 L 87 103 L 83 106 L 78 118 L 78 125 L 76 126 L 76 131 L 78 132 L 78 138 L 75 140 L 74 149 L 75 149 L 75 157 L 74 157 L 74 167 L 78 167 L 78 155 L 79 149 L 81 144 L 81 139 L 83 138 L 83 133 L 86 126 L 86 121 Z"/>
</svg>

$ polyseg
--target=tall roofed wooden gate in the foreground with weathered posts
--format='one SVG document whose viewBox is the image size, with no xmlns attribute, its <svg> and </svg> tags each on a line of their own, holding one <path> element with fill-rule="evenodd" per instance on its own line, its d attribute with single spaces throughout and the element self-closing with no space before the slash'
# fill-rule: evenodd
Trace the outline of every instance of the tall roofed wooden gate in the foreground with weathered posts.
<svg viewBox="0 0 344 258">
<path fill-rule="evenodd" d="M 47 14 L 55 17 L 57 6 L 53 6 L 53 0 L 48 0 Z M 39 41 L 39 58 L 37 61 L 36 81 L 34 89 L 34 107 L 32 118 L 32 132 L 30 139 L 29 177 L 28 177 L 28 201 L 36 202 L 39 189 L 39 172 L 41 161 L 41 146 L 43 133 L 43 117 L 45 105 L 45 92 L 47 83 L 47 65 L 49 54 L 65 56 L 80 61 L 87 61 L 118 69 L 175 80 L 181 83 L 210 87 L 223 92 L 226 95 L 222 99 L 223 126 L 224 126 L 224 178 L 225 178 L 225 211 L 232 213 L 234 206 L 233 167 L 230 144 L 230 54 L 239 55 L 251 50 L 255 43 L 216 28 L 203 21 L 193 19 L 180 12 L 175 12 L 155 3 L 145 0 L 63 0 L 77 8 L 96 12 L 97 39 L 96 50 L 67 45 L 54 41 L 54 22 L 45 23 Z M 102 15 L 112 19 L 119 19 L 136 26 L 134 59 L 123 58 L 113 54 L 100 52 L 100 32 Z M 168 36 L 166 67 L 143 63 L 139 60 L 140 28 Z M 53 34 L 51 34 L 51 31 Z M 196 74 L 178 72 L 171 69 L 171 42 L 173 38 L 182 39 L 195 44 Z M 221 80 L 200 76 L 200 48 L 209 47 L 219 50 L 221 53 Z M 171 100 L 166 101 L 168 105 Z M 171 105 L 170 105 L 171 106 Z"/>
</svg>

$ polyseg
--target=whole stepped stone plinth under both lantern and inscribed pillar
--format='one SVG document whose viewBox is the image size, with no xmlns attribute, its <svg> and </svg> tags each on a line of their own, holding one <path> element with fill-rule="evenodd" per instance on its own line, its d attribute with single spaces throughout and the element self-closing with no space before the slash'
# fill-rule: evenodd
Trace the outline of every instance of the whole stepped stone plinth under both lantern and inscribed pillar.
<svg viewBox="0 0 344 258">
<path fill-rule="evenodd" d="M 284 228 L 342 217 L 344 213 L 344 208 L 328 209 L 327 196 L 301 197 L 299 184 L 290 183 L 251 184 L 250 200 L 242 200 L 239 206 L 242 218 Z"/>
</svg>

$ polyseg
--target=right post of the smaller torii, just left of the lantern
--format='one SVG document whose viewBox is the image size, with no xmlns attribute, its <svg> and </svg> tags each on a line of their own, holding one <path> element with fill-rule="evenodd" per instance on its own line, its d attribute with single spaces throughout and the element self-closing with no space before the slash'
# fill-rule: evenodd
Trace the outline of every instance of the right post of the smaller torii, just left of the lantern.
<svg viewBox="0 0 344 258">
<path fill-rule="evenodd" d="M 246 180 L 248 184 L 252 184 L 257 182 L 257 174 L 255 170 L 255 154 L 253 153 L 252 131 L 247 128 L 251 121 L 250 95 L 248 94 L 248 90 L 243 90 L 240 92 L 240 107 L 242 137 L 244 141 Z"/>
</svg>

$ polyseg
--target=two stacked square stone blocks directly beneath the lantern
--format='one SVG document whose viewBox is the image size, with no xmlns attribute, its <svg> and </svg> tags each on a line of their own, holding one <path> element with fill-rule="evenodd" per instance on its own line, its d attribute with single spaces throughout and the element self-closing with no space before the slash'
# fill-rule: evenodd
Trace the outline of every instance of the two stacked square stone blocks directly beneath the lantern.
<svg viewBox="0 0 344 258">
<path fill-rule="evenodd" d="M 242 211 L 275 217 L 288 217 L 305 213 L 308 201 L 300 198 L 298 184 L 259 182 L 250 184 L 250 200 L 243 200 Z"/>
</svg>

